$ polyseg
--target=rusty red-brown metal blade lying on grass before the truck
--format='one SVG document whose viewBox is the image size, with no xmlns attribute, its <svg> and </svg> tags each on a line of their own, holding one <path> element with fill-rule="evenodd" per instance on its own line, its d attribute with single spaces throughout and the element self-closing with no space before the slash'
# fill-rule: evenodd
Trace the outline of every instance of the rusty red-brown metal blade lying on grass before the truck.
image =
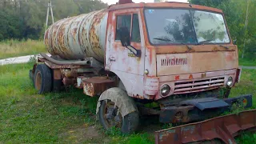
<svg viewBox="0 0 256 144">
<path fill-rule="evenodd" d="M 215 138 L 228 143 L 236 143 L 234 137 L 244 131 L 256 131 L 256 110 L 243 111 L 203 122 L 196 122 L 155 132 L 156 144 L 182 144 L 211 141 Z"/>
</svg>

